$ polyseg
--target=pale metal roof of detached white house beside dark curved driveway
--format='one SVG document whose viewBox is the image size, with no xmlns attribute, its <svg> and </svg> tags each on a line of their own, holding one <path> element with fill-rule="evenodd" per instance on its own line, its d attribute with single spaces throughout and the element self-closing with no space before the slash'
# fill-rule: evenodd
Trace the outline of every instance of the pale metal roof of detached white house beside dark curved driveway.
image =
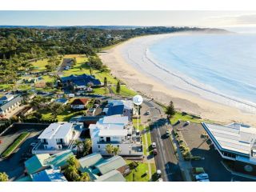
<svg viewBox="0 0 256 192">
<path fill-rule="evenodd" d="M 38 137 L 39 139 L 46 138 L 46 139 L 52 139 L 52 138 L 65 138 L 66 135 L 70 132 L 70 130 L 73 128 L 73 123 L 70 122 L 54 122 L 51 123 L 50 126 L 48 126 L 42 134 Z"/>
</svg>

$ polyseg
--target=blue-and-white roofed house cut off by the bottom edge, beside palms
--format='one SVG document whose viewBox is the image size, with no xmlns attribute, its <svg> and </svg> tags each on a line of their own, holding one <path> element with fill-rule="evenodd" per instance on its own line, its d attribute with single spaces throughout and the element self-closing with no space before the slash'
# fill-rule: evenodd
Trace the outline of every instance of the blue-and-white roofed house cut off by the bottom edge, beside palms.
<svg viewBox="0 0 256 192">
<path fill-rule="evenodd" d="M 32 182 L 67 182 L 60 169 L 50 168 L 31 175 Z"/>
</svg>

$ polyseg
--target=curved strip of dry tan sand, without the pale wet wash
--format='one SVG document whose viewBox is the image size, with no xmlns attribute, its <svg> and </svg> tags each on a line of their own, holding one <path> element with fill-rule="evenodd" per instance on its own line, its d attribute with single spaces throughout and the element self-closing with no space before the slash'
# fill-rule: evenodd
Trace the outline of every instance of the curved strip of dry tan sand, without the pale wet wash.
<svg viewBox="0 0 256 192">
<path fill-rule="evenodd" d="M 242 122 L 250 126 L 256 126 L 255 114 L 246 114 L 236 107 L 202 98 L 192 92 L 190 93 L 190 90 L 180 89 L 178 84 L 176 88 L 167 86 L 160 79 L 158 80 L 157 77 L 154 77 L 154 75 L 146 73 L 144 69 L 140 69 L 139 67 L 142 66 L 139 66 L 136 62 L 132 64 L 127 62 L 124 53 L 122 53 L 124 47 L 130 46 L 132 43 L 136 45 L 136 39 L 139 39 L 139 41 L 147 41 L 146 38 L 150 37 L 158 40 L 161 36 L 164 38 L 165 36 L 182 34 L 188 33 L 156 34 L 131 38 L 109 50 L 104 50 L 104 52 L 98 55 L 102 59 L 102 62 L 110 68 L 111 74 L 114 74 L 114 76 L 126 82 L 127 86 L 131 87 L 133 90 L 137 90 L 150 98 L 154 98 L 158 102 L 167 104 L 173 101 L 177 110 L 199 115 L 201 118 L 210 119 L 214 122 L 224 124 Z M 141 55 L 139 56 L 142 57 Z"/>
</svg>

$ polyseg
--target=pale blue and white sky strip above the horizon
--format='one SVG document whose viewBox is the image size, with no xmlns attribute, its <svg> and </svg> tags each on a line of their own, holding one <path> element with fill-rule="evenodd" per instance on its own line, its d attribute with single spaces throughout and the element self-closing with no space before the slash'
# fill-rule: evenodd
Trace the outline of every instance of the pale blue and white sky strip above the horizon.
<svg viewBox="0 0 256 192">
<path fill-rule="evenodd" d="M 256 11 L 0 11 L 0 25 L 14 26 L 256 26 Z"/>
</svg>

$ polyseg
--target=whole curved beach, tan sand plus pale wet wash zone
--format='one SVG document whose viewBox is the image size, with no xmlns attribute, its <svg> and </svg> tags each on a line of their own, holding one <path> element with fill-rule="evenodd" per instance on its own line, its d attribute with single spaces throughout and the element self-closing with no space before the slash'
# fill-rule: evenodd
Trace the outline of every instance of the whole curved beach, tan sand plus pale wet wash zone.
<svg viewBox="0 0 256 192">
<path fill-rule="evenodd" d="M 243 107 L 254 111 L 254 106 L 244 107 L 244 102 L 237 102 L 235 98 L 225 98 L 213 91 L 204 91 L 202 86 L 196 82 L 191 83 L 193 84 L 191 86 L 181 77 L 172 74 L 172 71 L 164 71 L 154 61 L 150 61 L 145 54 L 142 54 L 142 52 L 146 53 L 147 46 L 155 41 L 174 35 L 187 34 L 159 34 L 132 38 L 110 50 L 104 50 L 99 56 L 115 77 L 149 98 L 154 98 L 163 104 L 173 101 L 177 110 L 199 115 L 201 118 L 214 122 L 223 124 L 242 122 L 256 126 L 256 115 L 241 110 Z M 235 105 L 232 106 L 231 102 Z"/>
</svg>

